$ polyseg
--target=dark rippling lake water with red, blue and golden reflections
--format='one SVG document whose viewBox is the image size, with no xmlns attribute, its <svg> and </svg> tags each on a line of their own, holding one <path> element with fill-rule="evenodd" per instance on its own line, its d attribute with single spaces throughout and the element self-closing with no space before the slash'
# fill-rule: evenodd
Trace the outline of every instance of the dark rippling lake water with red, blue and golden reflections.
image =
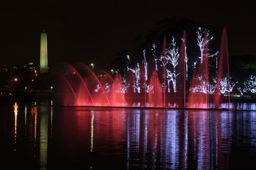
<svg viewBox="0 0 256 170">
<path fill-rule="evenodd" d="M 256 169 L 256 112 L 0 104 L 0 169 Z"/>
</svg>

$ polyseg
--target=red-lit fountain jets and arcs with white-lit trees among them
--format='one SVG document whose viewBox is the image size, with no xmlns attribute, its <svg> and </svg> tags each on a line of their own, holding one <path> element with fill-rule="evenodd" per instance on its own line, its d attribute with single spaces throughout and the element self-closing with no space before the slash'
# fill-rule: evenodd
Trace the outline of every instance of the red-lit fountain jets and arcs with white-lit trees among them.
<svg viewBox="0 0 256 170">
<path fill-rule="evenodd" d="M 191 66 L 191 79 L 188 79 L 190 58 L 186 52 L 186 31 L 183 31 L 180 48 L 174 38 L 168 46 L 164 37 L 158 56 L 156 45 L 152 45 L 154 69 L 149 69 L 146 60 L 149 52 L 144 50 L 142 63 L 127 67 L 122 76 L 119 72 L 110 76 L 103 70 L 93 71 L 86 64 L 76 62 L 63 64 L 49 82 L 57 87 L 55 96 L 65 106 L 229 108 L 229 105 L 221 105 L 224 95 L 230 95 L 232 90 L 226 30 L 223 29 L 220 52 L 213 54 L 209 50 L 213 39 L 209 31 L 198 28 L 196 35 L 200 55 Z M 215 67 L 209 66 L 210 58 L 215 59 Z M 130 62 L 128 55 L 127 60 Z"/>
</svg>

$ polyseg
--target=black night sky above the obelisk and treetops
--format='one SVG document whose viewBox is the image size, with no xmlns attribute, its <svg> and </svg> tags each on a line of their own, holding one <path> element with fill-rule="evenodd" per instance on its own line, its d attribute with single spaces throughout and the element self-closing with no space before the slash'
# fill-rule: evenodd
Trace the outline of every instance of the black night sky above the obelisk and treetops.
<svg viewBox="0 0 256 170">
<path fill-rule="evenodd" d="M 95 63 L 106 69 L 137 35 L 169 17 L 189 18 L 228 32 L 230 55 L 256 55 L 256 11 L 247 1 L 1 1 L 0 64 L 39 63 L 40 33 L 48 33 L 50 67 Z"/>
</svg>

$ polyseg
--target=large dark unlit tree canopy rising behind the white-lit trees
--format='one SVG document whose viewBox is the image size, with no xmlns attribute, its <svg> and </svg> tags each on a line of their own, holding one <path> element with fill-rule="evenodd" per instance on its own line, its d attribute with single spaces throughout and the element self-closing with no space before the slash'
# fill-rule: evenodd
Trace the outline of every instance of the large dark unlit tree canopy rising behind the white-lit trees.
<svg viewBox="0 0 256 170">
<path fill-rule="evenodd" d="M 177 47 L 180 50 L 183 30 L 186 30 L 187 35 L 187 54 L 190 58 L 188 60 L 188 65 L 190 66 L 196 60 L 196 57 L 198 57 L 200 52 L 196 41 L 196 31 L 199 27 L 209 30 L 210 36 L 213 37 L 213 40 L 210 41 L 210 53 L 214 53 L 220 48 L 221 33 L 218 33 L 213 26 L 210 26 L 207 23 L 196 23 L 190 19 L 177 20 L 172 17 L 166 18 L 164 21 L 159 21 L 156 23 L 156 26 L 158 26 L 158 29 L 152 30 L 145 38 L 143 38 L 142 35 L 137 35 L 135 38 L 135 41 L 137 42 L 135 50 L 122 50 L 119 52 L 117 54 L 118 57 L 112 60 L 110 69 L 117 70 L 120 74 L 124 74 L 127 71 L 126 67 L 132 67 L 138 62 L 142 63 L 144 60 L 143 50 L 146 50 L 146 61 L 152 63 L 152 60 L 154 60 L 154 55 L 151 50 L 152 45 L 156 45 L 156 52 L 158 53 L 156 55 L 161 55 L 164 36 L 166 36 L 166 47 L 169 47 L 171 40 L 174 37 Z M 131 63 L 127 61 L 127 55 L 130 56 Z M 150 68 L 151 64 L 149 64 L 149 69 Z"/>
</svg>

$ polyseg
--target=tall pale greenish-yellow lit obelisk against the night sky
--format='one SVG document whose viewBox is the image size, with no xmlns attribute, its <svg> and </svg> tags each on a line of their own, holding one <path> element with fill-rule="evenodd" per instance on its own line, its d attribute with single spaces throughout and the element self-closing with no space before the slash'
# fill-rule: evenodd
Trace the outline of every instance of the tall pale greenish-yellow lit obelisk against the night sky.
<svg viewBox="0 0 256 170">
<path fill-rule="evenodd" d="M 41 33 L 40 73 L 48 73 L 47 33 Z"/>
</svg>

